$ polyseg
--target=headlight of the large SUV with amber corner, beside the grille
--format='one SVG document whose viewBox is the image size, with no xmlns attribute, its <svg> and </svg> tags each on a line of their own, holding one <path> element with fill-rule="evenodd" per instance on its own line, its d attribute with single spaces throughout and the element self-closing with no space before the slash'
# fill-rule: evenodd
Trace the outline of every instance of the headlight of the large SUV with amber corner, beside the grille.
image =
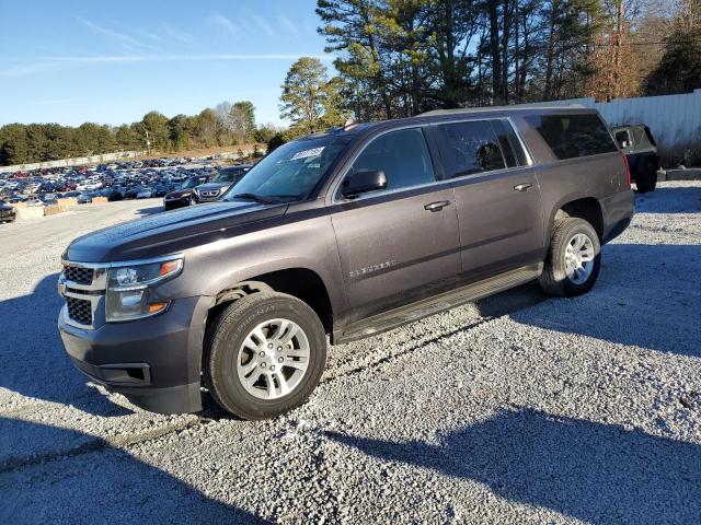
<svg viewBox="0 0 701 525">
<path fill-rule="evenodd" d="M 114 323 L 140 319 L 165 311 L 169 302 L 153 300 L 151 298 L 152 287 L 173 279 L 182 269 L 182 258 L 110 268 L 105 306 L 106 320 Z"/>
</svg>

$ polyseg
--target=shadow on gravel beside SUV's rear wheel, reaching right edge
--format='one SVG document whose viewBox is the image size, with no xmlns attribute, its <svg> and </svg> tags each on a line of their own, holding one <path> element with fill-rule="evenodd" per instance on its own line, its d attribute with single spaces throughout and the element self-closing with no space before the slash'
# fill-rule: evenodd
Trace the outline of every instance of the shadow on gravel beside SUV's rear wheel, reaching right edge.
<svg viewBox="0 0 701 525">
<path fill-rule="evenodd" d="M 589 293 L 553 299 L 510 317 L 565 334 L 700 357 L 699 268 L 701 245 L 606 245 L 599 280 Z M 493 314 L 489 304 L 478 303 L 483 315 Z"/>
</svg>

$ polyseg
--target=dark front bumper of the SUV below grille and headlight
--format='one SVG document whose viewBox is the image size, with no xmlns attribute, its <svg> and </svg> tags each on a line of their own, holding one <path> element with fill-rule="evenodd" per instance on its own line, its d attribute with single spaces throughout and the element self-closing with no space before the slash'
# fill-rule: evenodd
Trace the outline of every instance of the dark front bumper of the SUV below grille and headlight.
<svg viewBox="0 0 701 525">
<path fill-rule="evenodd" d="M 67 323 L 58 329 L 73 364 L 108 390 L 159 413 L 202 410 L 200 362 L 210 298 L 172 302 L 168 312 L 127 323 L 83 329 Z"/>
</svg>

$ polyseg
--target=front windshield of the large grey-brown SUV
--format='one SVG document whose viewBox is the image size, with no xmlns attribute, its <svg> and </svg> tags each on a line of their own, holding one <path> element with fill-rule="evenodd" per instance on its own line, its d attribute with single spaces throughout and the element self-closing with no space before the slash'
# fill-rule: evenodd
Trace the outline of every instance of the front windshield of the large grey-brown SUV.
<svg viewBox="0 0 701 525">
<path fill-rule="evenodd" d="M 303 200 L 350 139 L 350 135 L 344 133 L 283 144 L 229 188 L 223 200 L 242 194 L 286 201 Z"/>
</svg>

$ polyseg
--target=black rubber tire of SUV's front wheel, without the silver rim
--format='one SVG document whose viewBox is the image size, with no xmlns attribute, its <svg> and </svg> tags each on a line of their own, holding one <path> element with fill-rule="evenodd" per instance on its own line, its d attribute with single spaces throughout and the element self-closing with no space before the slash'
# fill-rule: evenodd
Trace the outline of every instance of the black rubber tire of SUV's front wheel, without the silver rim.
<svg viewBox="0 0 701 525">
<path fill-rule="evenodd" d="M 309 341 L 309 366 L 290 394 L 277 399 L 260 399 L 241 384 L 237 360 L 241 345 L 253 328 L 275 318 L 292 320 L 304 331 Z M 301 301 L 275 294 L 239 312 L 225 312 L 214 328 L 207 366 L 215 398 L 226 410 L 246 419 L 273 417 L 303 402 L 319 383 L 326 360 L 325 334 L 318 316 Z"/>
</svg>

